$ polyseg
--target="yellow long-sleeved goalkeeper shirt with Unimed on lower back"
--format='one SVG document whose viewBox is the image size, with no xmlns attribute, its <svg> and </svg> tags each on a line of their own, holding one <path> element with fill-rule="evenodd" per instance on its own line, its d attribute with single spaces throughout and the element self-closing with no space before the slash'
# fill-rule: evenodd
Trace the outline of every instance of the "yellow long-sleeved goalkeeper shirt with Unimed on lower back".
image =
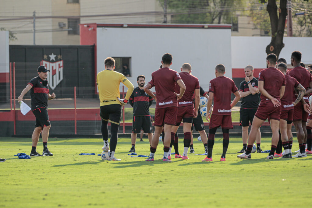
<svg viewBox="0 0 312 208">
<path fill-rule="evenodd" d="M 100 106 L 120 104 L 117 97 L 120 97 L 119 85 L 122 82 L 127 88 L 125 99 L 129 99 L 134 89 L 132 83 L 127 78 L 114 70 L 103 70 L 96 76 L 96 84 L 99 89 Z"/>
</svg>

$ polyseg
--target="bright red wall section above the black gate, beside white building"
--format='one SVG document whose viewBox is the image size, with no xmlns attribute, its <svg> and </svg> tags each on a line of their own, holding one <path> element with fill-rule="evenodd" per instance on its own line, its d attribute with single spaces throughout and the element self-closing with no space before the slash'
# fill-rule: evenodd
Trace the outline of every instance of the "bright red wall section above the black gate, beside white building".
<svg viewBox="0 0 312 208">
<path fill-rule="evenodd" d="M 96 23 L 79 24 L 80 45 L 96 45 Z"/>
</svg>

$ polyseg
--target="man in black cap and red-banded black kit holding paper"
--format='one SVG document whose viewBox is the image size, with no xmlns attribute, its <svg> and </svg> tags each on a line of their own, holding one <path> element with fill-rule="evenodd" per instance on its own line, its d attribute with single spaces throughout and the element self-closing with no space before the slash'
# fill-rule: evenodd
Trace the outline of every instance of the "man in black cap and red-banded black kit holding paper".
<svg viewBox="0 0 312 208">
<path fill-rule="evenodd" d="M 51 123 L 49 121 L 48 115 L 48 100 L 54 99 L 56 95 L 54 93 L 50 94 L 49 84 L 46 78 L 48 77 L 47 68 L 43 65 L 39 66 L 37 69 L 38 76 L 32 78 L 29 81 L 26 88 L 23 89 L 20 96 L 18 96 L 18 102 L 23 100 L 24 95 L 30 91 L 31 97 L 31 109 L 32 113 L 36 117 L 35 130 L 32 133 L 32 152 L 30 156 L 52 156 L 53 154 L 47 148 L 47 142 L 49 137 L 49 131 Z M 42 132 L 43 141 L 43 151 L 42 155 L 36 151 L 37 143 L 39 141 L 40 133 Z"/>
</svg>

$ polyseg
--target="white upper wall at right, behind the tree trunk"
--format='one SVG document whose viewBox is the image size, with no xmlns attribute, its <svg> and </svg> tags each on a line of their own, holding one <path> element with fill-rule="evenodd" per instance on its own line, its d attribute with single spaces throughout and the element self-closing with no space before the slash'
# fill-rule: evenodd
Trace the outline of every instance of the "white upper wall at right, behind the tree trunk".
<svg viewBox="0 0 312 208">
<path fill-rule="evenodd" d="M 271 37 L 232 36 L 232 68 L 244 68 L 253 65 L 254 68 L 266 68 L 266 46 Z M 290 64 L 293 51 L 302 53 L 302 62 L 307 66 L 312 64 L 312 37 L 284 37 L 284 48 L 279 58 L 285 58 Z"/>
</svg>

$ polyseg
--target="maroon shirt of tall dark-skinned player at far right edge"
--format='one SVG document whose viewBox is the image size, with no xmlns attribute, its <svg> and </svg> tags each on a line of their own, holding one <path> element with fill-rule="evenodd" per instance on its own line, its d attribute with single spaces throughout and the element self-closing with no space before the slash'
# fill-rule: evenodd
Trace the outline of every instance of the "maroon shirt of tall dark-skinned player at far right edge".
<svg viewBox="0 0 312 208">
<path fill-rule="evenodd" d="M 293 68 L 290 72 L 289 75 L 291 77 L 294 77 L 306 90 L 309 88 L 310 82 L 312 82 L 312 77 L 310 72 L 302 67 L 302 66 L 297 66 Z M 293 100 L 297 99 L 295 93 L 293 96 Z M 303 99 L 305 99 L 305 102 L 309 104 L 309 95 L 303 96 Z"/>
</svg>

